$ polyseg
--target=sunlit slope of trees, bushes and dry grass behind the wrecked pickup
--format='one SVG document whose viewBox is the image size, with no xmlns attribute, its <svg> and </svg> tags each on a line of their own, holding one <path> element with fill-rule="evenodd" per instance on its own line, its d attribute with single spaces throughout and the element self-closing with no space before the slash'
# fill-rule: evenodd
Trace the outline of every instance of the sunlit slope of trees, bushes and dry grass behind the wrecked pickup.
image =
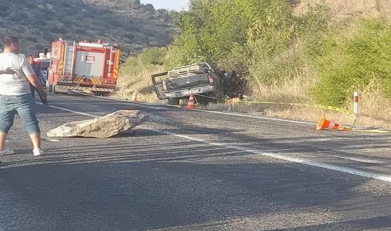
<svg viewBox="0 0 391 231">
<path fill-rule="evenodd" d="M 156 101 L 151 73 L 206 61 L 242 74 L 252 101 L 272 102 L 242 104 L 241 112 L 351 124 L 308 104 L 351 111 L 360 90 L 361 125 L 391 127 L 389 0 L 193 0 L 173 22 L 180 33 L 169 49 L 145 50 L 123 65 L 123 90 Z"/>
</svg>

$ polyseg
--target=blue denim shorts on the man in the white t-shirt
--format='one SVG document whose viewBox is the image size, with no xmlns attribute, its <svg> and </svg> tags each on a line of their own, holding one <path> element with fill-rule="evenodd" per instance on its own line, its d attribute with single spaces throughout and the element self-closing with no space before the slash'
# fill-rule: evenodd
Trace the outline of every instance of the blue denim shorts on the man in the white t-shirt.
<svg viewBox="0 0 391 231">
<path fill-rule="evenodd" d="M 0 131 L 8 133 L 13 125 L 15 112 L 19 114 L 29 134 L 41 132 L 32 94 L 0 95 Z"/>
</svg>

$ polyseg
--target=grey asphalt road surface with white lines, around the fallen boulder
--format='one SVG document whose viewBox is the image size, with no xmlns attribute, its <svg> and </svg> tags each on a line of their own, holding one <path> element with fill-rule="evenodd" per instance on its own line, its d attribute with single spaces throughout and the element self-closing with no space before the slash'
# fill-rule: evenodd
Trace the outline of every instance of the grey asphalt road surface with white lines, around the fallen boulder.
<svg viewBox="0 0 391 231">
<path fill-rule="evenodd" d="M 49 95 L 44 133 L 141 109 L 109 139 L 44 140 L 19 119 L 0 156 L 0 230 L 391 230 L 391 137 L 83 95 Z M 65 110 L 64 110 L 65 109 Z"/>
</svg>

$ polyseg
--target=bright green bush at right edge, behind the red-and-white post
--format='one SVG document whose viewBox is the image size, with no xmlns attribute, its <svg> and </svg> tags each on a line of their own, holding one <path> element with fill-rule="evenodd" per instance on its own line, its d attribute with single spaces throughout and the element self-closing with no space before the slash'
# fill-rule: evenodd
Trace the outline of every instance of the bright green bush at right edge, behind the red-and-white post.
<svg viewBox="0 0 391 231">
<path fill-rule="evenodd" d="M 353 89 L 378 80 L 391 97 L 391 25 L 381 18 L 360 20 L 348 30 L 329 34 L 324 55 L 314 62 L 319 81 L 310 93 L 318 103 L 343 106 Z"/>
</svg>

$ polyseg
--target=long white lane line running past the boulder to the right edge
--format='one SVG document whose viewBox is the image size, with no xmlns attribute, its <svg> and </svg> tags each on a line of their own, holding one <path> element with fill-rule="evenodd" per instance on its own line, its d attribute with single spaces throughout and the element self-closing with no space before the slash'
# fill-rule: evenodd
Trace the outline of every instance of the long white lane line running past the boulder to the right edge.
<svg viewBox="0 0 391 231">
<path fill-rule="evenodd" d="M 73 113 L 76 113 L 76 114 L 86 115 L 88 117 L 97 118 L 96 115 L 85 113 L 85 112 L 70 110 L 70 109 L 66 109 L 66 108 L 62 108 L 62 107 L 56 107 L 56 106 L 50 106 L 50 107 L 56 108 L 56 109 L 59 109 L 59 110 L 68 111 L 68 112 L 73 112 Z M 227 144 L 227 143 L 220 143 L 220 142 L 210 142 L 210 141 L 206 141 L 206 140 L 202 140 L 202 139 L 198 139 L 198 138 L 194 138 L 194 137 L 189 137 L 189 136 L 186 136 L 186 135 L 183 135 L 183 134 L 176 134 L 176 133 L 169 132 L 169 131 L 163 131 L 163 130 L 160 130 L 160 129 L 150 128 L 150 127 L 143 126 L 143 125 L 139 125 L 138 127 L 142 128 L 142 129 L 148 129 L 150 131 L 154 131 L 154 132 L 157 132 L 157 133 L 166 134 L 166 135 L 173 136 L 173 137 L 179 137 L 179 138 L 182 138 L 182 139 L 196 141 L 196 142 L 200 142 L 200 143 L 204 143 L 204 144 L 210 144 L 210 145 L 215 145 L 215 146 L 220 146 L 220 147 L 232 148 L 232 149 L 235 149 L 235 150 L 238 150 L 238 151 L 254 153 L 254 154 L 260 155 L 260 156 L 270 157 L 270 158 L 279 159 L 279 160 L 285 160 L 285 161 L 289 161 L 289 162 L 293 162 L 293 163 L 304 164 L 304 165 L 308 165 L 308 166 L 312 166 L 312 167 L 318 167 L 318 168 L 324 168 L 324 169 L 328 169 L 328 170 L 340 171 L 340 172 L 344 172 L 344 173 L 350 174 L 350 175 L 356 175 L 356 176 L 365 177 L 365 178 L 372 178 L 372 179 L 377 179 L 377 180 L 381 180 L 381 181 L 385 181 L 385 182 L 391 183 L 391 176 L 388 176 L 388 175 L 381 175 L 381 174 L 376 174 L 374 172 L 362 171 L 362 170 L 359 170 L 359 169 L 341 167 L 341 166 L 337 166 L 337 165 L 325 164 L 325 163 L 316 162 L 316 161 L 309 161 L 309 160 L 305 160 L 305 159 L 292 158 L 292 157 L 287 157 L 287 156 L 279 155 L 279 154 L 276 154 L 276 153 L 264 152 L 264 151 L 256 150 L 256 149 L 255 150 L 248 150 L 246 147 L 240 147 L 240 146 L 235 146 L 235 145 L 230 145 L 230 144 Z"/>
</svg>

